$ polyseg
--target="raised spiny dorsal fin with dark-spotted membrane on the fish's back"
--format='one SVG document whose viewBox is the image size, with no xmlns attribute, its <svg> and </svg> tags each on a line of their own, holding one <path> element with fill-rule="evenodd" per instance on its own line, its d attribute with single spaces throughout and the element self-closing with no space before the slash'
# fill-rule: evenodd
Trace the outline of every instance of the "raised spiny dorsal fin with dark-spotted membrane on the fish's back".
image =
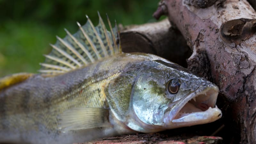
<svg viewBox="0 0 256 144">
<path fill-rule="evenodd" d="M 99 14 L 99 12 L 98 12 Z M 79 30 L 75 34 L 65 29 L 65 38 L 57 37 L 56 44 L 52 46 L 52 52 L 45 56 L 45 62 L 39 72 L 59 74 L 72 69 L 83 67 L 102 58 L 120 53 L 120 36 L 115 25 L 112 28 L 108 19 L 110 32 L 107 30 L 99 14 L 99 24 L 94 27 L 92 21 L 87 17 L 87 22 L 81 26 L 78 22 Z M 108 16 L 107 16 L 108 18 Z"/>
</svg>

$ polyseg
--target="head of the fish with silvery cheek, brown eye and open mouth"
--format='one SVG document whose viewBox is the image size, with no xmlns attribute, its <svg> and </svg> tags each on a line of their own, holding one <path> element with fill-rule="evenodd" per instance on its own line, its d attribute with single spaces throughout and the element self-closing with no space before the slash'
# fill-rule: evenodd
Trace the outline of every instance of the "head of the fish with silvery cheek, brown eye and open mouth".
<svg viewBox="0 0 256 144">
<path fill-rule="evenodd" d="M 187 69 L 163 60 L 140 66 L 131 92 L 127 126 L 158 132 L 213 122 L 222 116 L 215 106 L 219 88 Z"/>
</svg>

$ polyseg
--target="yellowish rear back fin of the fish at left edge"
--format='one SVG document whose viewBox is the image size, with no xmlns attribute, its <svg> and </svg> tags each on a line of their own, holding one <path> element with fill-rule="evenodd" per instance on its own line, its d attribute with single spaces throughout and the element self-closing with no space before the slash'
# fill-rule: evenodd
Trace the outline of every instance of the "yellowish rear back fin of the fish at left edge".
<svg viewBox="0 0 256 144">
<path fill-rule="evenodd" d="M 2 77 L 0 78 L 0 91 L 8 86 L 25 81 L 26 79 L 28 79 L 30 76 L 33 76 L 33 75 L 34 74 L 31 74 L 31 73 L 17 73 L 17 74 L 12 74 L 9 76 Z"/>
</svg>

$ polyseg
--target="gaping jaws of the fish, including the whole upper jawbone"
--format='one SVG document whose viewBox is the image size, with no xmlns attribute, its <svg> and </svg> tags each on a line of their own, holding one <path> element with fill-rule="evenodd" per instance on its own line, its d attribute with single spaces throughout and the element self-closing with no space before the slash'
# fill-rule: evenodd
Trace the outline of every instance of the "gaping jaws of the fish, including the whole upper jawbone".
<svg viewBox="0 0 256 144">
<path fill-rule="evenodd" d="M 199 87 L 165 113 L 164 127 L 173 129 L 218 120 L 222 116 L 221 110 L 215 105 L 218 93 L 219 88 L 214 84 L 208 84 L 206 88 Z"/>
</svg>

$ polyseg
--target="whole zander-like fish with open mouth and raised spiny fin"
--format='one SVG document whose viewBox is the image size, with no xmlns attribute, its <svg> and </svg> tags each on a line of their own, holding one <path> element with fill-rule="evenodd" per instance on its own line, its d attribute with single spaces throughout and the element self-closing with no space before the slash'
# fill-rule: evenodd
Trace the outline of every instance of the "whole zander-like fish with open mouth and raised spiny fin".
<svg viewBox="0 0 256 144">
<path fill-rule="evenodd" d="M 160 132 L 221 118 L 219 88 L 148 53 L 124 53 L 99 14 L 57 36 L 39 73 L 0 79 L 0 142 L 69 144 Z"/>
</svg>

